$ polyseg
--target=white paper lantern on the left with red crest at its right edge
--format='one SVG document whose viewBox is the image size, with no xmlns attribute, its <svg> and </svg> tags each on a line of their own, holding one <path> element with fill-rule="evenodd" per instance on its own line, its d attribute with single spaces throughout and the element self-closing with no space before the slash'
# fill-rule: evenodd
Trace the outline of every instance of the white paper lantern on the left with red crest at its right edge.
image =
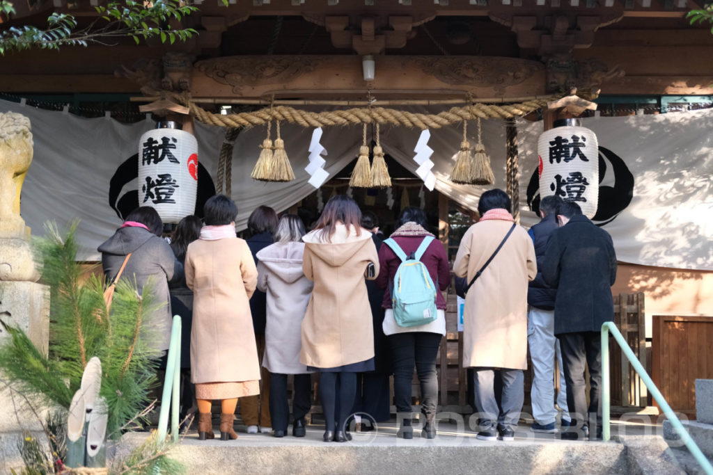
<svg viewBox="0 0 713 475">
<path fill-rule="evenodd" d="M 138 204 L 154 207 L 164 223 L 195 212 L 198 142 L 188 132 L 154 129 L 138 144 Z"/>
</svg>

